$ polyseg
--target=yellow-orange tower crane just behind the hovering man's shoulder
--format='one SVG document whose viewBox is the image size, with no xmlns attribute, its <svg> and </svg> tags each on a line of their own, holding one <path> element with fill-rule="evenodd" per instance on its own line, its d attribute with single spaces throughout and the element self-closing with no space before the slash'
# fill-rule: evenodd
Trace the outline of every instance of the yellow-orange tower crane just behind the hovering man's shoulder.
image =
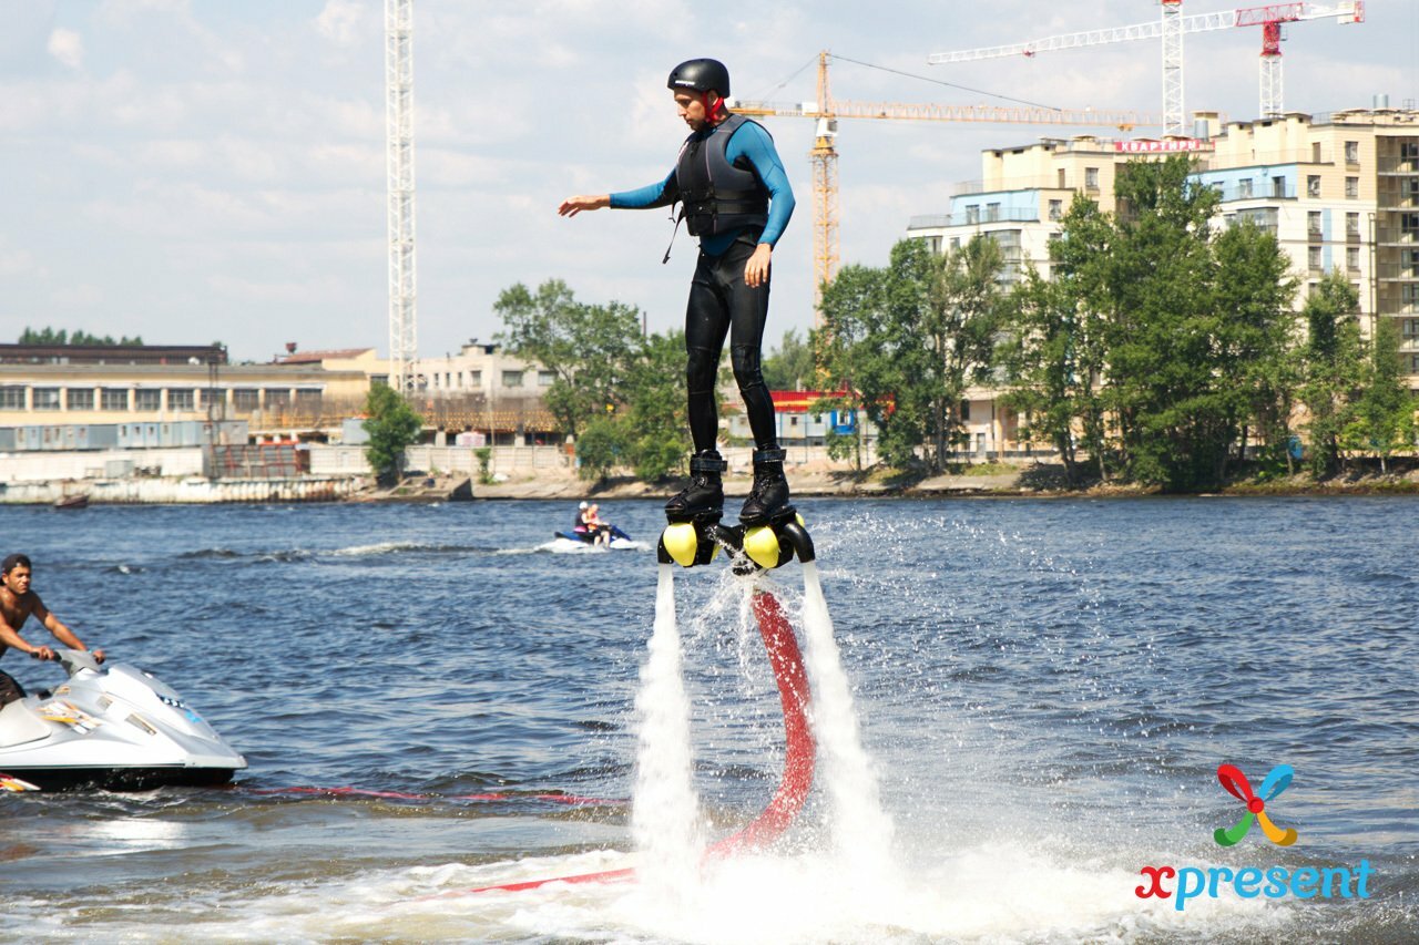
<svg viewBox="0 0 1419 945">
<path fill-rule="evenodd" d="M 734 101 L 732 108 L 748 116 L 812 118 L 817 122 L 813 149 L 813 306 L 822 301 L 823 285 L 837 275 L 837 119 L 873 118 L 918 122 L 1002 122 L 1019 125 L 1076 125 L 1084 128 L 1158 126 L 1156 115 L 1130 111 L 1059 109 L 1044 106 L 1006 108 L 993 105 L 910 105 L 898 102 L 851 102 L 834 99 L 829 88 L 827 62 L 832 54 L 817 54 L 817 101 L 799 105 Z"/>
</svg>

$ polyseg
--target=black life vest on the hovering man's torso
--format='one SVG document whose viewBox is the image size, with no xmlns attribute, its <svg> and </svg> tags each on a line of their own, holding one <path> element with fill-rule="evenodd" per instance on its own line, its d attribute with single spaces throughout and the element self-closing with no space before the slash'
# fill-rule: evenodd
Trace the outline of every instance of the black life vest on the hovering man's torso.
<svg viewBox="0 0 1419 945">
<path fill-rule="evenodd" d="M 729 115 L 708 135 L 695 132 L 687 138 L 680 149 L 675 183 L 690 236 L 718 236 L 746 227 L 762 230 L 769 221 L 769 192 L 753 167 L 746 159 L 731 163 L 725 156 L 734 132 L 748 121 Z"/>
</svg>

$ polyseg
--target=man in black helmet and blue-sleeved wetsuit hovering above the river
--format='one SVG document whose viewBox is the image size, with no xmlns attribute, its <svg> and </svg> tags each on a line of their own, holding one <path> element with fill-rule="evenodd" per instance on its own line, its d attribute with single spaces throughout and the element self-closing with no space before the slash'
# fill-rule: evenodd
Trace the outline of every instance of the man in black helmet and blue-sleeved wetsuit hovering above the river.
<svg viewBox="0 0 1419 945">
<path fill-rule="evenodd" d="M 681 203 L 680 216 L 700 238 L 700 258 L 685 306 L 685 376 L 690 387 L 690 485 L 666 504 L 671 522 L 717 521 L 724 511 L 717 448 L 715 375 L 725 336 L 734 377 L 753 433 L 753 488 L 739 511 L 745 525 L 792 518 L 786 453 L 773 426 L 773 400 L 759 368 L 769 315 L 773 247 L 793 214 L 793 189 L 769 132 L 725 106 L 729 71 L 717 60 L 690 60 L 670 72 L 667 87 L 690 136 L 670 175 L 617 193 L 568 197 L 563 217 L 602 207 L 644 210 Z M 678 226 L 678 221 L 677 221 Z M 667 257 L 668 258 L 668 253 Z"/>
</svg>

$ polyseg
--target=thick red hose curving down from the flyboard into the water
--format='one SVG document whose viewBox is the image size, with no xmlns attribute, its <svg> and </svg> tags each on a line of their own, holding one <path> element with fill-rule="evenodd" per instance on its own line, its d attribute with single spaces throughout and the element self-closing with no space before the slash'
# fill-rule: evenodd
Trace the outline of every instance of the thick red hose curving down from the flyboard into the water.
<svg viewBox="0 0 1419 945">
<path fill-rule="evenodd" d="M 793 626 L 783 614 L 783 607 L 778 597 L 766 590 L 755 590 L 752 597 L 753 617 L 759 624 L 759 636 L 763 637 L 763 648 L 769 653 L 769 665 L 773 667 L 773 678 L 779 684 L 779 701 L 783 704 L 783 735 L 786 751 L 783 755 L 783 778 L 773 799 L 763 812 L 744 829 L 729 834 L 724 840 L 711 846 L 707 857 L 727 857 L 739 850 L 753 850 L 773 843 L 793 817 L 803 809 L 807 792 L 813 786 L 813 734 L 807 726 L 809 688 L 807 673 L 803 670 L 803 653 L 799 650 L 797 637 L 793 636 Z M 580 875 L 563 875 L 551 880 L 528 880 L 525 883 L 499 883 L 484 885 L 463 892 L 491 892 L 492 890 L 519 891 L 535 890 L 549 883 L 612 883 L 629 880 L 636 875 L 634 870 L 607 870 L 604 873 L 583 873 Z M 444 892 L 443 895 L 461 895 L 463 892 Z"/>
</svg>

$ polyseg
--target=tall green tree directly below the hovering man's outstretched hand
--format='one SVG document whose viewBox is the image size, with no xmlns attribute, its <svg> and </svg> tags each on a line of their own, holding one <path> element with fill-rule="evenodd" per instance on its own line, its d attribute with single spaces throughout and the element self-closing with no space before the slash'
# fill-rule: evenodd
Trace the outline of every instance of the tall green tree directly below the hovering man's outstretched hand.
<svg viewBox="0 0 1419 945">
<path fill-rule="evenodd" d="M 498 341 L 556 375 L 542 402 L 566 433 L 578 436 L 616 403 L 641 333 L 639 309 L 578 302 L 561 280 L 548 280 L 536 294 L 518 282 L 492 309 L 505 329 Z"/>
</svg>

